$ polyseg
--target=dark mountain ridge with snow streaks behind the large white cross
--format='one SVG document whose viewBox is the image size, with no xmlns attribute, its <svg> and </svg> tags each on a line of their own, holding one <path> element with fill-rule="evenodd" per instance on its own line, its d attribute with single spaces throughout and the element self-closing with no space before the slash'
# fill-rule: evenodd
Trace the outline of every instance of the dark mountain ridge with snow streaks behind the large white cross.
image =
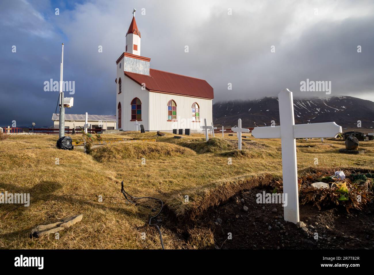
<svg viewBox="0 0 374 275">
<path fill-rule="evenodd" d="M 295 124 L 334 121 L 344 128 L 357 128 L 358 120 L 364 129 L 374 127 L 374 102 L 351 96 L 328 98 L 294 97 Z M 269 126 L 272 120 L 279 125 L 278 97 L 262 97 L 255 100 L 230 100 L 213 104 L 215 126 L 225 128 Z M 359 128 L 358 130 L 359 131 Z"/>
</svg>

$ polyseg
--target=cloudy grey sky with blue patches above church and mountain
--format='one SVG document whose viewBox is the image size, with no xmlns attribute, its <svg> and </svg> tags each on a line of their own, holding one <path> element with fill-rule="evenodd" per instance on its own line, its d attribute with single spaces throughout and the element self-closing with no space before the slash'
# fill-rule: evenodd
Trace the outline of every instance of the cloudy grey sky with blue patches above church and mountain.
<svg viewBox="0 0 374 275">
<path fill-rule="evenodd" d="M 75 81 L 74 107 L 67 113 L 114 114 L 115 61 L 124 51 L 133 7 L 141 54 L 151 58 L 151 67 L 206 79 L 216 102 L 277 95 L 285 87 L 296 96 L 324 96 L 301 93 L 300 81 L 306 79 L 331 81 L 331 95 L 370 99 L 373 6 L 371 1 L 2 1 L 0 126 L 12 120 L 19 126 L 52 125 L 58 94 L 45 92 L 43 83 L 59 80 L 61 42 L 64 80 Z"/>
</svg>

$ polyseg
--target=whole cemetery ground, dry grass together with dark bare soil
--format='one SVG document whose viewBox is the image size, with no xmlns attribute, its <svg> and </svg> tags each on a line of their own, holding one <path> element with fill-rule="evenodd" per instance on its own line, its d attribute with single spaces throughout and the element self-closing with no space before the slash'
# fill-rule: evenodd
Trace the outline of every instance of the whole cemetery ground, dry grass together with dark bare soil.
<svg viewBox="0 0 374 275">
<path fill-rule="evenodd" d="M 31 197 L 29 207 L 0 205 L 1 248 L 159 249 L 159 235 L 148 226 L 148 217 L 157 213 L 159 204 L 128 204 L 120 192 L 121 181 L 131 195 L 165 203 L 157 217 L 165 248 L 373 248 L 372 203 L 350 213 L 344 207 L 319 211 L 313 204 L 300 205 L 300 220 L 316 227 L 319 244 L 282 219 L 281 205 L 255 203 L 256 193 L 271 193 L 282 178 L 280 140 L 244 138 L 243 150 L 238 151 L 236 137 L 227 134 L 224 139 L 216 134 L 208 143 L 202 134 L 181 139 L 155 132 L 102 137 L 156 141 L 99 145 L 90 154 L 82 146 L 56 149 L 55 135 L 12 135 L 0 141 L 0 192 Z M 347 174 L 374 170 L 374 142 L 362 141 L 360 147 L 364 154 L 348 155 L 338 153 L 344 148 L 342 141 L 297 140 L 299 176 L 333 174 L 339 168 Z M 249 210 L 243 211 L 243 205 Z M 83 214 L 82 221 L 61 231 L 59 239 L 29 238 L 37 225 L 78 214 Z M 225 241 L 227 232 L 232 232 L 232 240 Z M 355 243 L 359 245 L 352 247 Z"/>
</svg>

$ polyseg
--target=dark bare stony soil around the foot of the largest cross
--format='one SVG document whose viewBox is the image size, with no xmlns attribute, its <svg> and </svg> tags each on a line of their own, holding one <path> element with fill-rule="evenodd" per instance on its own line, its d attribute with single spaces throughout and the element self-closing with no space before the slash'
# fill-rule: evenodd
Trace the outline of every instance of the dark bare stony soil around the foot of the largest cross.
<svg viewBox="0 0 374 275">
<path fill-rule="evenodd" d="M 257 187 L 231 198 L 211 209 L 196 226 L 211 228 L 216 249 L 374 248 L 373 202 L 363 211 L 352 210 L 350 214 L 344 207 L 319 211 L 310 204 L 300 205 L 300 220 L 308 228 L 304 233 L 295 224 L 284 221 L 281 204 L 256 203 L 255 195 L 263 190 L 271 193 L 270 188 Z M 243 210 L 244 205 L 248 211 Z M 277 211 L 273 212 L 274 209 Z M 228 233 L 232 239 L 227 238 Z"/>
</svg>

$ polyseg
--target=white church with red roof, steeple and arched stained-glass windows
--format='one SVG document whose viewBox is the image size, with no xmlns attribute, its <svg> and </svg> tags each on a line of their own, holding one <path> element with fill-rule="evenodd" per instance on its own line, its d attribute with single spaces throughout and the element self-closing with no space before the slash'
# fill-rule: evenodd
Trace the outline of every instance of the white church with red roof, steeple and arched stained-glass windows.
<svg viewBox="0 0 374 275">
<path fill-rule="evenodd" d="M 150 68 L 150 58 L 141 56 L 141 34 L 135 10 L 126 33 L 125 52 L 117 59 L 117 129 L 145 131 L 191 129 L 212 123 L 213 88 L 206 80 Z"/>
</svg>

